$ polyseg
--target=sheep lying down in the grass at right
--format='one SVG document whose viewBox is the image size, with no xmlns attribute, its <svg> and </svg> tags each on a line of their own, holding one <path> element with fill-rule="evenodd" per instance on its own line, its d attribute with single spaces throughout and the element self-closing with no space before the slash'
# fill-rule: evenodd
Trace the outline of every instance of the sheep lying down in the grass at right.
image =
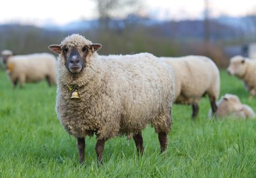
<svg viewBox="0 0 256 178">
<path fill-rule="evenodd" d="M 218 110 L 215 114 L 216 118 L 255 118 L 255 113 L 249 105 L 241 103 L 236 95 L 225 94 L 217 103 Z M 209 117 L 212 118 L 212 111 L 209 112 Z"/>
</svg>

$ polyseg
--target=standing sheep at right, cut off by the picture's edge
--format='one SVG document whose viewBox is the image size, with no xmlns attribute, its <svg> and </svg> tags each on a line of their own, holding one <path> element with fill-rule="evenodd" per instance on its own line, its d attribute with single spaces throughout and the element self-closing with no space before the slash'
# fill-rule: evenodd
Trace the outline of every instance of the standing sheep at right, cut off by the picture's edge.
<svg viewBox="0 0 256 178">
<path fill-rule="evenodd" d="M 256 60 L 234 56 L 230 58 L 227 72 L 229 75 L 235 75 L 238 79 L 243 80 L 246 89 L 250 93 L 249 99 L 253 99 L 256 94 Z"/>
</svg>

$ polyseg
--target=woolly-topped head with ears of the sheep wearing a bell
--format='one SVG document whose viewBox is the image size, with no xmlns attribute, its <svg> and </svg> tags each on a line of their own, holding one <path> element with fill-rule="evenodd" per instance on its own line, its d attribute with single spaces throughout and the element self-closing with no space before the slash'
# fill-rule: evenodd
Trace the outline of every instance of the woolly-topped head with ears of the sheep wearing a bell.
<svg viewBox="0 0 256 178">
<path fill-rule="evenodd" d="M 65 38 L 60 45 L 53 44 L 49 48 L 61 55 L 71 74 L 77 74 L 86 66 L 86 59 L 101 48 L 101 44 L 92 44 L 84 36 L 73 34 Z"/>
</svg>

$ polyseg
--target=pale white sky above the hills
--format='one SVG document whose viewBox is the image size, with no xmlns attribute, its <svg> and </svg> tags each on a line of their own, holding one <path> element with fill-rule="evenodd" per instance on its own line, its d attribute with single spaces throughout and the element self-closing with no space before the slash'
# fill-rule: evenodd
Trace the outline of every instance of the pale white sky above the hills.
<svg viewBox="0 0 256 178">
<path fill-rule="evenodd" d="M 141 15 L 155 19 L 202 19 L 204 0 L 142 0 Z M 208 0 L 211 17 L 256 14 L 255 0 Z M 75 1 L 1 1 L 0 24 L 64 25 L 79 19 L 98 17 L 94 0 Z"/>
</svg>

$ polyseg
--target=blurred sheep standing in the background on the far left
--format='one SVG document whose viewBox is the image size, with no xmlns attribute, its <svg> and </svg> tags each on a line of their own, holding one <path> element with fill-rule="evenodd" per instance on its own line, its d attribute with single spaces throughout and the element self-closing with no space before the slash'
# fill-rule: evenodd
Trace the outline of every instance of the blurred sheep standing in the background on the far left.
<svg viewBox="0 0 256 178">
<path fill-rule="evenodd" d="M 12 56 L 12 52 L 2 52 L 6 72 L 13 83 L 13 88 L 20 83 L 32 83 L 46 79 L 49 86 L 56 84 L 56 57 L 49 53 L 36 53 Z"/>
</svg>

